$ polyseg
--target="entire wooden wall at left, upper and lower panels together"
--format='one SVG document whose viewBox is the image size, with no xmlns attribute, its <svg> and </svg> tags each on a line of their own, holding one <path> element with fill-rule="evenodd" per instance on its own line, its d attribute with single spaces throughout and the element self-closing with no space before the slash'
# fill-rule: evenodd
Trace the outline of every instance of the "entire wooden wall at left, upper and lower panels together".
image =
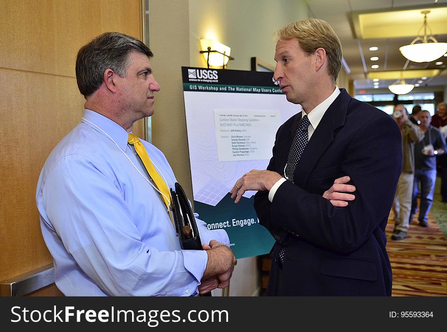
<svg viewBox="0 0 447 332">
<path fill-rule="evenodd" d="M 0 2 L 0 280 L 52 261 L 36 185 L 48 154 L 83 113 L 74 69 L 79 47 L 107 31 L 141 40 L 141 21 L 141 0 Z M 142 123 L 135 126 L 140 137 Z M 60 294 L 53 288 L 42 294 Z"/>
</svg>

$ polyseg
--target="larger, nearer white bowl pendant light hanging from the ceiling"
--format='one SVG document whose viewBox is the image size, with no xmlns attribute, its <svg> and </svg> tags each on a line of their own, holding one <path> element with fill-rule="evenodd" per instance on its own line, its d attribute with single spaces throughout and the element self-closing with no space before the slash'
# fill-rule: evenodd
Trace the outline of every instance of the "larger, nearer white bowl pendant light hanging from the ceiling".
<svg viewBox="0 0 447 332">
<path fill-rule="evenodd" d="M 417 37 L 411 44 L 399 47 L 399 51 L 407 59 L 413 62 L 431 62 L 441 57 L 445 52 L 447 52 L 447 43 L 438 43 L 438 41 L 433 37 L 427 37 L 427 14 L 430 13 L 429 10 L 422 11 L 424 14 L 424 24 L 418 32 L 421 32 L 424 28 L 424 37 Z M 431 29 L 430 34 L 431 34 Z M 431 41 L 431 43 L 429 43 Z M 417 43 L 420 42 L 420 43 Z"/>
</svg>

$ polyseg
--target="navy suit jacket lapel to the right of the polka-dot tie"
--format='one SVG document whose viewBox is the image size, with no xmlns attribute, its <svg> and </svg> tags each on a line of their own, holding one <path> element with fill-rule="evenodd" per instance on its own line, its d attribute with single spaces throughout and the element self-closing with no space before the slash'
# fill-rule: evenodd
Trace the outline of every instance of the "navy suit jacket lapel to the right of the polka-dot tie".
<svg viewBox="0 0 447 332">
<path fill-rule="evenodd" d="M 301 155 L 300 162 L 295 168 L 294 183 L 296 185 L 305 188 L 309 174 L 316 162 L 334 140 L 334 131 L 344 125 L 347 105 L 351 99 L 345 89 L 340 89 L 340 95 L 323 115 L 320 124 L 316 127 Z M 296 130 L 294 133 L 296 133 Z"/>
</svg>

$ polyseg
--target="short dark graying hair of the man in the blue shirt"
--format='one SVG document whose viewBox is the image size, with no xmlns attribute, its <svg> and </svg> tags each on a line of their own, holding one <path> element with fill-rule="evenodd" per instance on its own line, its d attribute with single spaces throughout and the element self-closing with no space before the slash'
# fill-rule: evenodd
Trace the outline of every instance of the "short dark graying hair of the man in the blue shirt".
<svg viewBox="0 0 447 332">
<path fill-rule="evenodd" d="M 129 68 L 129 54 L 138 52 L 148 58 L 151 50 L 140 40 L 116 32 L 107 32 L 82 46 L 76 58 L 76 81 L 85 98 L 104 82 L 104 72 L 113 70 L 124 77 Z"/>
</svg>

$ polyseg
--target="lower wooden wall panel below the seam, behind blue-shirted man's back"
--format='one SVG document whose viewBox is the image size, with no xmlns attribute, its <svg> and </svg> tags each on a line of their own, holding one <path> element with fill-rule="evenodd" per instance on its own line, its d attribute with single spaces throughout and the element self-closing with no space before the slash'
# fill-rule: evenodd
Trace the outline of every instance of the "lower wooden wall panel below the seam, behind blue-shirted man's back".
<svg viewBox="0 0 447 332">
<path fill-rule="evenodd" d="M 0 69 L 0 86 L 8 96 L 0 102 L 3 280 L 52 262 L 41 236 L 36 185 L 53 147 L 79 122 L 84 98 L 73 77 Z"/>
</svg>

